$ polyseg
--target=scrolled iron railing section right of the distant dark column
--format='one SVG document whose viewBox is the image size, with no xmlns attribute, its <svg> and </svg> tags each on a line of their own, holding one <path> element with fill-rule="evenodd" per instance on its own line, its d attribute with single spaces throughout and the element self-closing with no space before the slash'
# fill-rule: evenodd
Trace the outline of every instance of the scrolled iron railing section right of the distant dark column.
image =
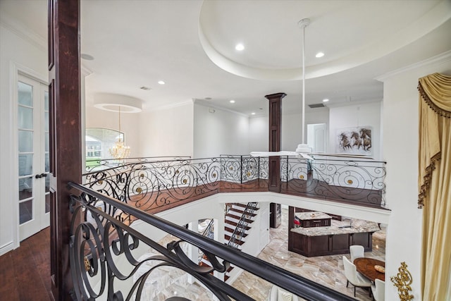
<svg viewBox="0 0 451 301">
<path fill-rule="evenodd" d="M 280 158 L 282 192 L 366 206 L 385 206 L 385 162 Z"/>
</svg>

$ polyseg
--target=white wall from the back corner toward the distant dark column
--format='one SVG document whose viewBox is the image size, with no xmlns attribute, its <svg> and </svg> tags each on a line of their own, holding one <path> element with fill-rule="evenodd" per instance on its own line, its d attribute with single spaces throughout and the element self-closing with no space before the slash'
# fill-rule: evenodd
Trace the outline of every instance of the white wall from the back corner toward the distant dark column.
<svg viewBox="0 0 451 301">
<path fill-rule="evenodd" d="M 249 117 L 194 104 L 194 158 L 249 152 Z"/>
</svg>

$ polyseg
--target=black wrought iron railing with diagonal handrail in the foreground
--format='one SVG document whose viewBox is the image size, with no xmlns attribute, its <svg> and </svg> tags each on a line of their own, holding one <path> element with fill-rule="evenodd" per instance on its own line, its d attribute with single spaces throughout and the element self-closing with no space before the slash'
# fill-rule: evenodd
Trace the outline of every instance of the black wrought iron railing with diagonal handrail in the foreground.
<svg viewBox="0 0 451 301">
<path fill-rule="evenodd" d="M 210 274 L 211 271 L 223 273 L 230 264 L 306 300 L 353 300 L 352 297 L 215 240 L 204 238 L 199 233 L 188 231 L 125 202 L 76 183 L 68 185 L 73 189 L 73 195 L 70 197 L 70 210 L 73 213 L 70 226 L 70 272 L 73 278 L 73 293 L 77 300 L 93 300 L 100 296 L 107 300 L 140 300 L 147 279 L 152 278 L 158 269 L 165 266 L 189 274 L 218 300 L 253 300 L 249 295 Z M 99 203 L 113 208 L 112 211 L 116 213 L 121 212 L 123 216 L 130 216 L 130 219 L 159 228 L 180 240 L 173 241 L 166 247 L 159 245 L 147 235 L 136 231 L 130 224 L 124 223 L 123 219 L 116 219 L 97 208 Z M 181 247 L 185 242 L 199 247 L 207 254 L 212 267 L 199 266 L 197 262 L 192 262 Z M 158 254 L 138 259 L 135 250 L 143 244 Z M 123 269 L 118 264 L 121 260 L 128 264 L 128 269 Z M 156 264 L 144 273 L 137 274 L 138 269 L 144 268 L 147 262 Z M 127 281 L 130 282 L 129 285 L 121 284 Z M 159 281 L 159 278 L 152 281 Z M 187 287 L 186 290 L 190 288 Z M 180 295 L 170 297 L 171 300 L 186 300 Z M 166 300 L 169 300 L 169 297 L 166 297 Z"/>
</svg>

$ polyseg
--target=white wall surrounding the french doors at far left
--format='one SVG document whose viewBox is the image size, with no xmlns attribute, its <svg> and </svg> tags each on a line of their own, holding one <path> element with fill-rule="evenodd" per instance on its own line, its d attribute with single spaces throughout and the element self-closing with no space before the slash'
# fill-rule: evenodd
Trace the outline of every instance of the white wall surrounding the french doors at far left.
<svg viewBox="0 0 451 301">
<path fill-rule="evenodd" d="M 0 16 L 0 255 L 18 247 L 15 68 L 48 82 L 47 48 L 33 37 L 16 35 Z M 15 31 L 16 32 L 16 31 Z"/>
</svg>

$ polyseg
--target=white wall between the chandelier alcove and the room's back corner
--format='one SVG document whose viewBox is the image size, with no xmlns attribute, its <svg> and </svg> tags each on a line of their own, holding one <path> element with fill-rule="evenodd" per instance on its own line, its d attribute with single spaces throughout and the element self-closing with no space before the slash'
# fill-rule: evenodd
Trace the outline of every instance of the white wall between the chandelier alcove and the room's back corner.
<svg viewBox="0 0 451 301">
<path fill-rule="evenodd" d="M 193 104 L 140 113 L 141 156 L 192 156 Z"/>
</svg>

